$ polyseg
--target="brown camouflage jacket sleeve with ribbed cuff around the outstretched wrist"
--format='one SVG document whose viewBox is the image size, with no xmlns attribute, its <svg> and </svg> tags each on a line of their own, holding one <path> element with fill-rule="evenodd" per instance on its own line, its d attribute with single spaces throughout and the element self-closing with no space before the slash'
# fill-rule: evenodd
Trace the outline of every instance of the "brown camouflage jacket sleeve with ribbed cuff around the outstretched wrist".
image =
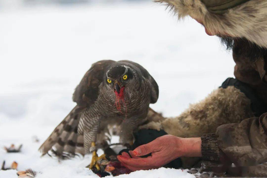
<svg viewBox="0 0 267 178">
<path fill-rule="evenodd" d="M 205 160 L 229 160 L 239 166 L 267 162 L 267 113 L 241 123 L 221 125 L 216 133 L 201 136 Z"/>
</svg>

